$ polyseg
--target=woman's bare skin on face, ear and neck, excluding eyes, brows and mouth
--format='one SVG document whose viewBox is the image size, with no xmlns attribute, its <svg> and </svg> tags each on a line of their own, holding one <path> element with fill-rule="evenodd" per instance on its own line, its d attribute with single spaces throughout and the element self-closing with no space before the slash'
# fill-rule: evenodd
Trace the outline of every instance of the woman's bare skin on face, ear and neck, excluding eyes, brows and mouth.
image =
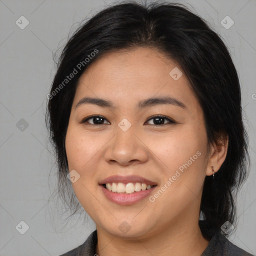
<svg viewBox="0 0 256 256">
<path fill-rule="evenodd" d="M 202 109 L 184 72 L 174 80 L 169 72 L 182 68 L 155 48 L 137 47 L 108 53 L 91 63 L 81 75 L 74 96 L 65 147 L 69 171 L 80 178 L 74 192 L 97 228 L 98 255 L 200 255 L 208 241 L 199 226 L 199 206 L 205 175 L 219 169 L 226 156 L 227 142 L 210 145 Z M 152 105 L 138 109 L 142 99 L 172 96 L 185 104 Z M 84 96 L 111 100 L 115 108 L 83 104 Z M 89 115 L 103 116 L 103 124 Z M 152 115 L 166 115 L 154 125 Z M 118 123 L 126 118 L 127 131 Z M 157 120 L 156 120 L 157 121 Z M 97 123 L 94 120 L 94 123 Z M 158 187 L 197 151 L 196 160 L 158 197 L 132 205 L 118 205 L 106 199 L 98 182 L 111 175 L 140 175 Z M 130 230 L 118 226 L 126 221 Z M 156 246 L 157 244 L 157 246 Z"/>
</svg>

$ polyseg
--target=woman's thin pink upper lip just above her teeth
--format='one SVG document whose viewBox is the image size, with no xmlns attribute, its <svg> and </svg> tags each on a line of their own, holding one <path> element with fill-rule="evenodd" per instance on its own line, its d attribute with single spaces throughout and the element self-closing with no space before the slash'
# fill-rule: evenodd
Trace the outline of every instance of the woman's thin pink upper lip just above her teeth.
<svg viewBox="0 0 256 256">
<path fill-rule="evenodd" d="M 137 175 L 130 175 L 130 176 L 120 176 L 120 175 L 113 175 L 113 176 L 109 176 L 107 178 L 104 178 L 103 180 L 101 180 L 99 182 L 99 184 L 106 184 L 106 183 L 136 183 L 136 182 L 140 182 L 140 183 L 145 183 L 147 185 L 156 185 L 156 182 L 153 182 L 151 180 L 148 180 L 146 178 L 137 176 Z"/>
</svg>

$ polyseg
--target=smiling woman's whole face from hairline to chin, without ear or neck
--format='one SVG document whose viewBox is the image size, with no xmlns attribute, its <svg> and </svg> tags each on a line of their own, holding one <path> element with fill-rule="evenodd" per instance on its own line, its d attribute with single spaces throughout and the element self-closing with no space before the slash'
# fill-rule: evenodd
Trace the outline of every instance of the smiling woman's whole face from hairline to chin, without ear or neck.
<svg viewBox="0 0 256 256">
<path fill-rule="evenodd" d="M 146 237 L 198 219 L 207 137 L 181 72 L 163 53 L 138 47 L 102 56 L 80 77 L 65 147 L 79 176 L 72 187 L 98 230 Z"/>
</svg>

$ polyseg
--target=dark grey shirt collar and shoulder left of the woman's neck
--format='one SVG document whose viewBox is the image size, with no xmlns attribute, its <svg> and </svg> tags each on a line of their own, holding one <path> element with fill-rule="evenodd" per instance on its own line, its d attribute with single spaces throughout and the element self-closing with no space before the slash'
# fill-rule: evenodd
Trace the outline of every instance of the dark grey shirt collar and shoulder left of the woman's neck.
<svg viewBox="0 0 256 256">
<path fill-rule="evenodd" d="M 94 230 L 84 243 L 78 247 L 67 251 L 59 256 L 94 256 L 95 246 L 97 244 L 97 230 Z"/>
</svg>

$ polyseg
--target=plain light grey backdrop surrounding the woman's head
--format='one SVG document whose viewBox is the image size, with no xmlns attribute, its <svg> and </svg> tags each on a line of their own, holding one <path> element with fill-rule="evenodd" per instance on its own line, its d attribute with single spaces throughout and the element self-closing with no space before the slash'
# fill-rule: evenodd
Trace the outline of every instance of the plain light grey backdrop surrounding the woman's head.
<svg viewBox="0 0 256 256">
<path fill-rule="evenodd" d="M 44 114 L 55 72 L 52 52 L 66 41 L 76 22 L 113 2 L 0 0 L 0 255 L 59 255 L 81 244 L 95 229 L 90 219 L 83 223 L 78 215 L 65 225 L 67 215 L 57 213 L 55 207 L 61 203 L 56 204 L 56 197 L 49 199 L 56 167 Z M 177 2 L 190 4 L 221 35 L 237 67 L 251 172 L 237 198 L 238 227 L 229 239 L 255 254 L 256 0 Z M 24 29 L 15 23 L 21 15 L 29 21 Z M 220 23 L 226 15 L 234 21 L 229 29 Z M 15 228 L 21 220 L 29 226 L 24 234 Z"/>
</svg>

